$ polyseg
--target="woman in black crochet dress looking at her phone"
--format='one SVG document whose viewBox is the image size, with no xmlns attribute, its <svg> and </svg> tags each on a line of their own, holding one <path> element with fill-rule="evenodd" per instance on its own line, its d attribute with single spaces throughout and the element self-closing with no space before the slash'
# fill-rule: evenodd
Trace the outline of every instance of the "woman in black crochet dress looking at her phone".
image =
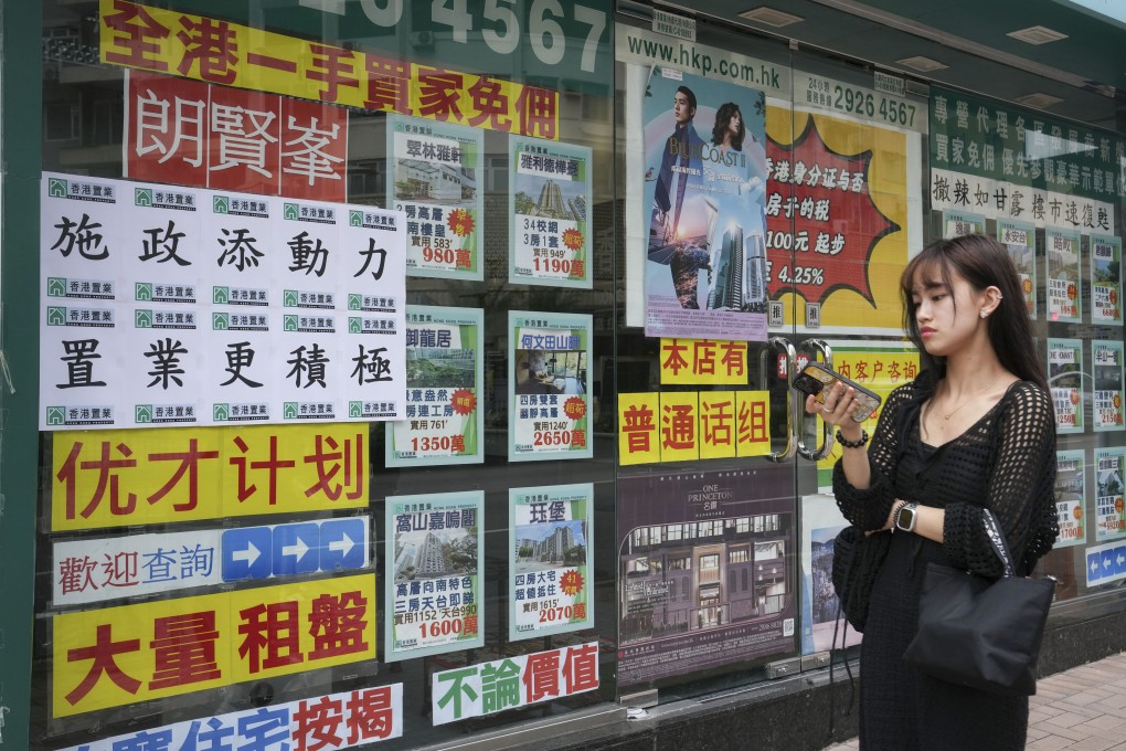
<svg viewBox="0 0 1126 751">
<path fill-rule="evenodd" d="M 928 562 L 1001 575 L 983 508 L 1004 531 L 1018 575 L 1055 542 L 1055 420 L 1044 367 L 1017 270 L 998 242 L 936 242 L 912 259 L 900 287 L 919 377 L 891 394 L 870 446 L 850 417 L 852 388 L 838 384 L 821 408 L 844 447 L 833 471 L 838 506 L 859 528 L 892 535 L 861 646 L 860 748 L 1024 749 L 1027 697 L 947 683 L 902 655 Z M 812 396 L 805 408 L 817 409 Z"/>
</svg>

